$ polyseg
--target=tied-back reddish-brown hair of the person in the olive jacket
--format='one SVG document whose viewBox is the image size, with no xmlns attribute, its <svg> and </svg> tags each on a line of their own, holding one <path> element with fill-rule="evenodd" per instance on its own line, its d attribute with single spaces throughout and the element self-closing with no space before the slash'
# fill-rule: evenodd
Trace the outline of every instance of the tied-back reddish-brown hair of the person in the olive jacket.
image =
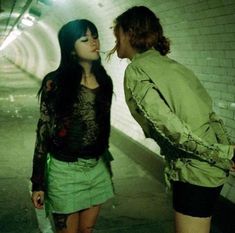
<svg viewBox="0 0 235 233">
<path fill-rule="evenodd" d="M 161 55 L 169 53 L 170 42 L 163 35 L 159 18 L 145 6 L 134 6 L 115 19 L 114 34 L 117 37 L 117 45 L 108 56 L 117 49 L 120 27 L 124 33 L 130 35 L 131 46 L 139 52 L 154 47 Z"/>
</svg>

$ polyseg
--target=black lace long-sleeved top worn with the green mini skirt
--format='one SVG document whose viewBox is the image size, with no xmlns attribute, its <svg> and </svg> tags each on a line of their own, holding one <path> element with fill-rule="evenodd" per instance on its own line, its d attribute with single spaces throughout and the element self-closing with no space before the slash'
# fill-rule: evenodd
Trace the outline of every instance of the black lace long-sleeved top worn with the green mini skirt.
<svg viewBox="0 0 235 233">
<path fill-rule="evenodd" d="M 111 98 L 101 88 L 80 87 L 71 114 L 57 116 L 53 96 L 56 85 L 48 80 L 41 95 L 31 181 L 33 191 L 44 190 L 47 154 L 73 162 L 78 158 L 98 158 L 108 148 Z"/>
</svg>

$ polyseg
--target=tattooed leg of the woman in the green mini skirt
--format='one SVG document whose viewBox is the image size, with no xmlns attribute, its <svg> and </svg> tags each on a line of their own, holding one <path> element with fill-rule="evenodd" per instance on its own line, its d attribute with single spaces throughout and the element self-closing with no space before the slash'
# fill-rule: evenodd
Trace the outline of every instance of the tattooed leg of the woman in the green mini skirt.
<svg viewBox="0 0 235 233">
<path fill-rule="evenodd" d="M 53 214 L 56 233 L 77 233 L 79 213 Z"/>
</svg>

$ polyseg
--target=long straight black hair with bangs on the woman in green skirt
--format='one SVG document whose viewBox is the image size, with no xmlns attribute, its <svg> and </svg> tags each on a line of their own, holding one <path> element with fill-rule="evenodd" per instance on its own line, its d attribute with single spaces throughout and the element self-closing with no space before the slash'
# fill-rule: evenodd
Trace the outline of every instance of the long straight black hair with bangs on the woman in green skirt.
<svg viewBox="0 0 235 233">
<path fill-rule="evenodd" d="M 58 33 L 61 61 L 59 67 L 47 74 L 39 89 L 41 95 L 48 79 L 56 84 L 57 90 L 54 96 L 55 111 L 59 115 L 66 114 L 72 110 L 72 106 L 80 91 L 83 68 L 72 54 L 77 39 L 84 36 L 87 29 L 92 36 L 98 37 L 96 26 L 86 19 L 73 20 L 62 26 Z M 109 98 L 112 95 L 112 81 L 101 64 L 101 59 L 92 62 L 91 72 L 95 75 L 101 91 Z M 110 97 L 111 98 L 111 97 Z"/>
</svg>

